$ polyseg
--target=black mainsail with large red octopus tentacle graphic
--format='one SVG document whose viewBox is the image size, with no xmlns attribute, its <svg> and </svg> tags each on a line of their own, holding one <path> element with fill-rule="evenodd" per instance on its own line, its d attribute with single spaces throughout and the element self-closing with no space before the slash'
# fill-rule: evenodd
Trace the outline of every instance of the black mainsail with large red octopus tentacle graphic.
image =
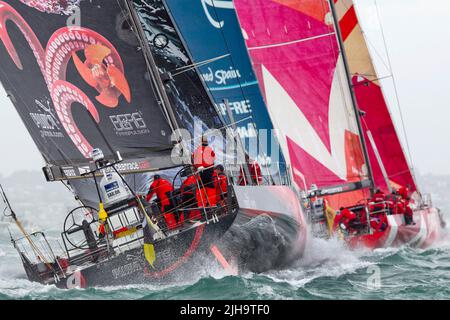
<svg viewBox="0 0 450 320">
<path fill-rule="evenodd" d="M 123 172 L 170 166 L 172 128 L 124 3 L 41 2 L 0 1 L 0 80 L 55 178 L 79 177 L 92 148 L 119 151 Z"/>
</svg>

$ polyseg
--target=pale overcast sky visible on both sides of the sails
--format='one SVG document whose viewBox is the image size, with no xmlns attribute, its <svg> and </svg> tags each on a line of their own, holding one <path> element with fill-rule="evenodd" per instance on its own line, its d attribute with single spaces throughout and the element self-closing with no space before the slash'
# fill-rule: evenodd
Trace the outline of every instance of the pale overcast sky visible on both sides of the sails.
<svg viewBox="0 0 450 320">
<path fill-rule="evenodd" d="M 381 77 L 391 74 L 380 25 L 384 29 L 415 167 L 450 174 L 450 1 L 355 2 Z M 392 79 L 383 84 L 401 131 Z M 0 119 L 0 174 L 39 170 L 42 157 L 2 87 Z"/>
</svg>

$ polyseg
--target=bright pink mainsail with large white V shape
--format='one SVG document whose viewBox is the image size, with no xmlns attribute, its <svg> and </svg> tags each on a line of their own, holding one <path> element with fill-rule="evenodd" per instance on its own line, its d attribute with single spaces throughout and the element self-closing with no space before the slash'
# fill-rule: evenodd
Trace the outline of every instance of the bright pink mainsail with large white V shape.
<svg viewBox="0 0 450 320">
<path fill-rule="evenodd" d="M 315 184 L 328 194 L 370 186 L 328 3 L 236 0 L 235 6 L 297 185 Z"/>
</svg>

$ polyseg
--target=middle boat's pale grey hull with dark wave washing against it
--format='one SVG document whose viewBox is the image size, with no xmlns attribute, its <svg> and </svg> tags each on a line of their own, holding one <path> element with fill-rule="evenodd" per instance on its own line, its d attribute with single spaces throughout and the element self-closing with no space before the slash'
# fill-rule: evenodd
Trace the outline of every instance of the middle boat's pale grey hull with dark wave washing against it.
<svg viewBox="0 0 450 320">
<path fill-rule="evenodd" d="M 286 186 L 235 187 L 239 214 L 218 247 L 239 271 L 265 272 L 301 258 L 307 224 L 296 193 Z"/>
</svg>

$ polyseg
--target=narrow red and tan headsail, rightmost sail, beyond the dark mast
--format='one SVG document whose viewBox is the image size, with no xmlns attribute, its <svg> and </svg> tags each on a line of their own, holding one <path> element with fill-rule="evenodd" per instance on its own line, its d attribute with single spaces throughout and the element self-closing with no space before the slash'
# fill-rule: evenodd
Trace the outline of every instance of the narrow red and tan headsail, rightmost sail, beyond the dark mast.
<svg viewBox="0 0 450 320">
<path fill-rule="evenodd" d="M 375 185 L 385 192 L 389 191 L 382 172 L 384 167 L 391 188 L 410 185 L 410 190 L 415 191 L 417 187 L 383 96 L 353 1 L 334 0 L 334 3 L 357 102 L 359 108 L 366 113 L 362 117 L 362 123 Z M 370 142 L 371 137 L 367 135 L 369 131 L 374 143 Z M 381 163 L 377 160 L 376 151 Z"/>
</svg>

